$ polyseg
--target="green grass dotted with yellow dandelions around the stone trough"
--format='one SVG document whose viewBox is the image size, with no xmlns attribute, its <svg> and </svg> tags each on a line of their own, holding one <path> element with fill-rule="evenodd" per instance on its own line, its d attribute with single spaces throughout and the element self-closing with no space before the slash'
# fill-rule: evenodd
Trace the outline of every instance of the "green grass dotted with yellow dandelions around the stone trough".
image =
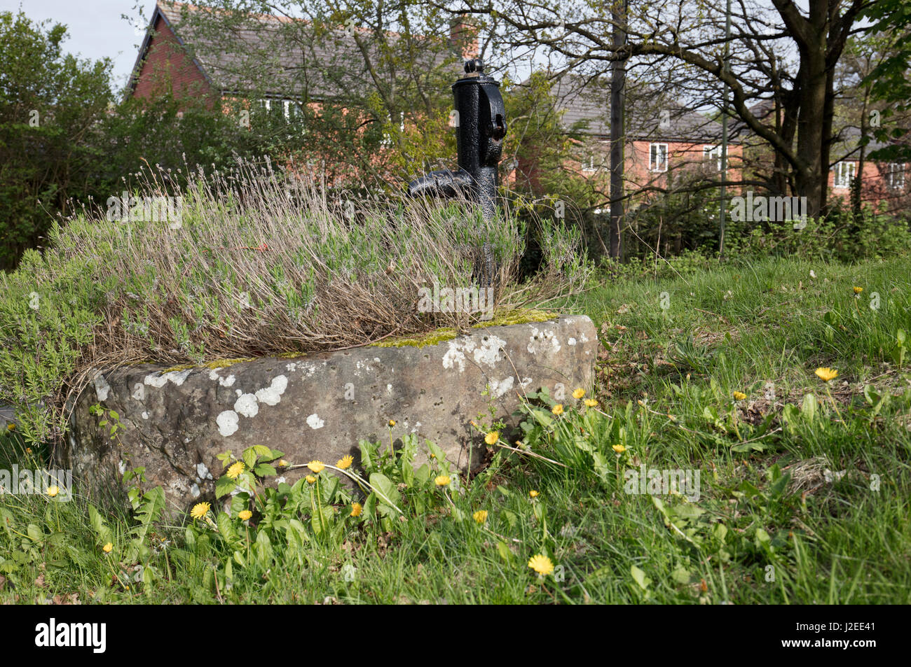
<svg viewBox="0 0 911 667">
<path fill-rule="evenodd" d="M 911 359 L 898 333 L 911 332 L 907 258 L 768 260 L 602 284 L 566 309 L 599 327 L 603 412 L 566 397 L 550 423 L 553 399 L 538 397 L 523 438 L 562 465 L 501 450 L 462 480 L 464 493 L 435 488 L 435 472 L 405 480 L 402 517 L 348 517 L 337 495 L 322 536 L 306 508 L 295 513 L 308 528 L 300 543 L 281 523 L 286 504 L 261 527 L 269 550 L 247 551 L 241 529 L 243 566 L 199 520 L 150 527 L 141 544 L 169 542 L 144 553 L 131 546 L 136 520 L 103 512 L 93 525 L 85 500 L 2 496 L 0 601 L 911 601 Z M 817 367 L 839 375 L 826 387 Z M 28 465 L 13 438 L 3 445 L 10 463 Z M 398 463 L 373 471 L 395 484 Z M 624 492 L 623 470 L 640 464 L 699 470 L 699 500 Z M 483 528 L 476 510 L 488 512 Z M 537 553 L 562 576 L 539 579 L 527 567 Z M 153 582 L 126 581 L 137 562 Z"/>
</svg>

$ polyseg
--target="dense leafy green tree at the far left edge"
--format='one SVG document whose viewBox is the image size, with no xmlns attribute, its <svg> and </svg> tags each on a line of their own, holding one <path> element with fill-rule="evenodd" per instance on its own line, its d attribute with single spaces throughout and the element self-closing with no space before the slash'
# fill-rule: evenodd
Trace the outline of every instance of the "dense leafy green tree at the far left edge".
<svg viewBox="0 0 911 667">
<path fill-rule="evenodd" d="M 0 12 L 0 268 L 91 190 L 111 63 L 65 55 L 64 25 Z"/>
</svg>

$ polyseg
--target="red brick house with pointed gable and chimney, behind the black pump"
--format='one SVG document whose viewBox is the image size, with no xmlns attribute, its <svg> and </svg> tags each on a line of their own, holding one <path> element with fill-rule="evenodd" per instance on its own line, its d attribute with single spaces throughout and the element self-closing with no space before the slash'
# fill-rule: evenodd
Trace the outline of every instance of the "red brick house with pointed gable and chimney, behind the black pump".
<svg viewBox="0 0 911 667">
<path fill-rule="evenodd" d="M 370 90 L 372 73 L 355 44 L 353 28 L 330 30 L 308 45 L 298 44 L 295 50 L 283 41 L 282 29 L 292 21 L 308 25 L 302 19 L 247 15 L 252 28 L 245 25 L 230 33 L 210 35 L 199 29 L 200 17 L 204 18 L 200 15 L 210 11 L 159 0 L 139 48 L 128 88 L 130 96 L 153 98 L 171 93 L 179 98 L 211 99 L 213 105 L 217 100 L 245 100 L 248 108 L 280 111 L 289 118 L 301 105 L 346 108 L 344 100 L 350 99 L 353 91 Z M 185 20 L 190 15 L 196 20 Z M 401 37 L 394 33 L 386 36 L 390 41 Z M 420 35 L 414 38 L 421 39 Z M 230 47 L 225 47 L 222 39 Z M 427 59 L 427 70 L 443 66 L 451 68 L 455 76 L 462 71 L 462 58 L 475 57 L 477 49 L 476 30 L 469 19 L 456 20 L 450 25 L 447 53 L 428 49 L 417 57 Z M 248 58 L 274 62 L 264 85 L 250 80 Z"/>
</svg>

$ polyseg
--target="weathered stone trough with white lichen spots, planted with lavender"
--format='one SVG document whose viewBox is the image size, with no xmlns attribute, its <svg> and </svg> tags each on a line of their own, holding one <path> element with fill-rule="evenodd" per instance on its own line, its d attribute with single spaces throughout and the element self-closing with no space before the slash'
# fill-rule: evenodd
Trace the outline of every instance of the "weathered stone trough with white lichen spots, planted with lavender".
<svg viewBox="0 0 911 667">
<path fill-rule="evenodd" d="M 76 400 L 59 463 L 91 496 L 117 494 L 123 471 L 143 466 L 148 484 L 165 490 L 172 509 L 187 509 L 214 499 L 222 452 L 240 458 L 260 444 L 285 452 L 292 463 L 334 463 L 351 454 L 357 465 L 358 441 L 389 442 L 387 424 L 394 419 L 392 440 L 407 433 L 433 440 L 460 470 L 469 470 L 486 447 L 472 419 L 492 403 L 497 418 L 514 428 L 519 396 L 541 387 L 572 400 L 573 389 L 592 384 L 598 346 L 584 316 L 473 328 L 433 340 L 104 372 Z M 95 404 L 118 413 L 116 439 L 90 412 Z M 301 474 L 289 472 L 288 482 Z"/>
</svg>

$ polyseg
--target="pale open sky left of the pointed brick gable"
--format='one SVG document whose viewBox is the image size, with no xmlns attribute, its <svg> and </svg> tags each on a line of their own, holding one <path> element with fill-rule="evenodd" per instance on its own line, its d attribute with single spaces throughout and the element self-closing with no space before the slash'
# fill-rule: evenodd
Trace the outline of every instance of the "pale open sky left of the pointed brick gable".
<svg viewBox="0 0 911 667">
<path fill-rule="evenodd" d="M 15 13 L 21 8 L 33 21 L 51 19 L 67 25 L 64 51 L 91 60 L 109 57 L 114 61 L 115 82 L 123 86 L 136 62 L 142 32 L 134 32 L 120 15 L 135 21 L 136 5 L 136 0 L 0 0 L 0 11 Z M 148 20 L 155 0 L 140 0 L 139 5 Z"/>
</svg>

